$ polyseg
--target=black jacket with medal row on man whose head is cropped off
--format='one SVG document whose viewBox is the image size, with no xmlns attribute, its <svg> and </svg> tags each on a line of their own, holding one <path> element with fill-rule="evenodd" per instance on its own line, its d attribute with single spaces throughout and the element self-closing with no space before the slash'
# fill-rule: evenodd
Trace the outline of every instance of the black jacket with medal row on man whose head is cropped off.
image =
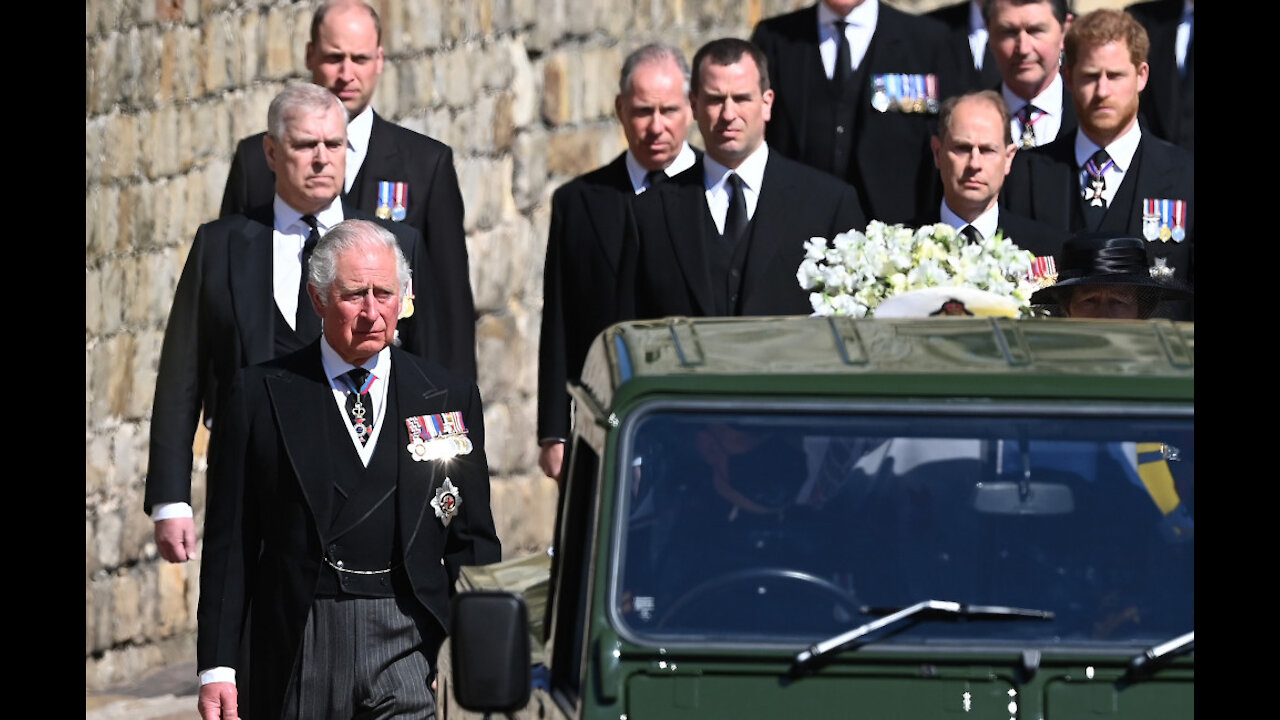
<svg viewBox="0 0 1280 720">
<path fill-rule="evenodd" d="M 769 147 L 801 163 L 823 167 L 823 160 L 815 155 L 815 145 L 820 141 L 808 136 L 806 124 L 814 97 L 828 92 L 831 82 L 818 51 L 817 5 L 762 20 L 751 41 L 768 58 L 776 94 L 764 135 Z M 937 74 L 940 99 L 955 95 L 963 85 L 957 79 L 946 26 L 883 3 L 859 70 L 863 68 L 868 86 L 876 74 Z M 865 182 L 854 176 L 844 179 L 856 187 L 868 219 L 910 222 L 928 208 L 928 192 L 934 181 L 929 137 L 936 115 L 881 113 L 872 108 L 870 97 L 870 90 L 864 88 L 854 118 L 852 158 Z"/>
</svg>

